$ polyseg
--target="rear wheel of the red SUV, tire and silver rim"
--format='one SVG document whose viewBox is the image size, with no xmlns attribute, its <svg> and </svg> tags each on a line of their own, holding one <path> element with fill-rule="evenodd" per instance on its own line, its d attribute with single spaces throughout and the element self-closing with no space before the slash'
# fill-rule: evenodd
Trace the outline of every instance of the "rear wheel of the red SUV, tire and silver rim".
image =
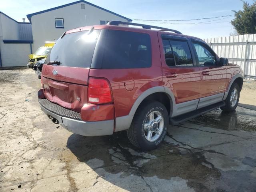
<svg viewBox="0 0 256 192">
<path fill-rule="evenodd" d="M 127 135 L 130 142 L 142 150 L 158 147 L 169 124 L 165 106 L 157 101 L 146 101 L 136 111 Z"/>
</svg>

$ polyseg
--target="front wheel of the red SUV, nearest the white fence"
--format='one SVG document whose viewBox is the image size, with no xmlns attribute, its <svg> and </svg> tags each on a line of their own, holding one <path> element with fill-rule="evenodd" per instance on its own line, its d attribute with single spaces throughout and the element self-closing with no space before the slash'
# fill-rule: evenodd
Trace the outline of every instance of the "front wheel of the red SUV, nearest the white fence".
<svg viewBox="0 0 256 192">
<path fill-rule="evenodd" d="M 225 100 L 226 105 L 220 109 L 224 112 L 232 112 L 236 110 L 240 97 L 240 87 L 237 83 L 233 83 Z"/>
</svg>

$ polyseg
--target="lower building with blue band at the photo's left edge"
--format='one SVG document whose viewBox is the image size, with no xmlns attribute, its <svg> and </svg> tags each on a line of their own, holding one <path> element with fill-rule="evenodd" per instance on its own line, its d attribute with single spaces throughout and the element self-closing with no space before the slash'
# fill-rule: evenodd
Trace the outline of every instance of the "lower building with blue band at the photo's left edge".
<svg viewBox="0 0 256 192">
<path fill-rule="evenodd" d="M 32 53 L 32 27 L 0 12 L 0 67 L 26 66 Z"/>
</svg>

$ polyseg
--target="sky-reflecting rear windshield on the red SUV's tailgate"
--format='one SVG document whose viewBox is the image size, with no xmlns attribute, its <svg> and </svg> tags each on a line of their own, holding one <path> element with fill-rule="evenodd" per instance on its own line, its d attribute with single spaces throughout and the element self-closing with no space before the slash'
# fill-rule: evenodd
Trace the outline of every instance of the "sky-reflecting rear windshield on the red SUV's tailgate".
<svg viewBox="0 0 256 192">
<path fill-rule="evenodd" d="M 90 68 L 100 30 L 75 32 L 59 38 L 47 61 L 58 61 L 60 66 Z"/>
</svg>

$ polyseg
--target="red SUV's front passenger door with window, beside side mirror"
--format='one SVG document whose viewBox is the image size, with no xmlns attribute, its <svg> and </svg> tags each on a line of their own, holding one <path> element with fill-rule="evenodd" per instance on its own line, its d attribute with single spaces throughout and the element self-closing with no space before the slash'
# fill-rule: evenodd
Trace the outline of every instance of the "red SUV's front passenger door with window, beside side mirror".
<svg viewBox="0 0 256 192">
<path fill-rule="evenodd" d="M 221 101 L 222 94 L 220 93 L 225 91 L 226 85 L 226 67 L 218 66 L 216 54 L 205 42 L 192 40 L 192 44 L 202 74 L 200 97 L 212 96 L 209 100 L 213 101 L 213 95 L 215 95 Z"/>
</svg>

